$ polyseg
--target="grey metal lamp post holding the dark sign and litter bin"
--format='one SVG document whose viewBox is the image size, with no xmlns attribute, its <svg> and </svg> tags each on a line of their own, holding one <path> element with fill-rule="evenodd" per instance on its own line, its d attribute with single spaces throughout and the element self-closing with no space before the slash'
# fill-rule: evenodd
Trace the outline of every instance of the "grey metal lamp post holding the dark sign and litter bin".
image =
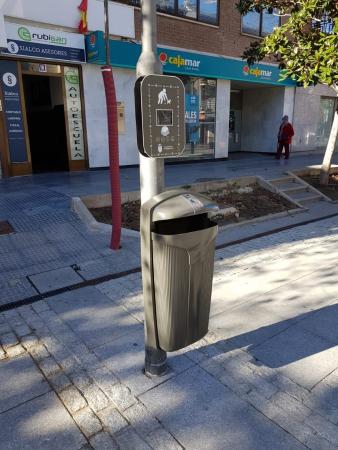
<svg viewBox="0 0 338 450">
<path fill-rule="evenodd" d="M 161 74 L 162 65 L 157 57 L 157 21 L 156 2 L 141 0 L 142 13 L 142 52 L 136 66 L 137 77 Z M 146 158 L 140 155 L 141 203 L 145 203 L 156 194 L 164 191 L 164 161 L 159 158 Z M 142 236 L 141 236 L 142 239 Z M 142 258 L 143 259 L 143 258 Z M 145 320 L 147 311 L 145 312 Z M 147 330 L 147 327 L 145 327 Z M 154 327 L 148 327 L 154 329 Z M 155 342 L 155 336 L 146 336 L 145 371 L 150 375 L 162 375 L 166 370 L 167 354 L 149 343 Z"/>
</svg>

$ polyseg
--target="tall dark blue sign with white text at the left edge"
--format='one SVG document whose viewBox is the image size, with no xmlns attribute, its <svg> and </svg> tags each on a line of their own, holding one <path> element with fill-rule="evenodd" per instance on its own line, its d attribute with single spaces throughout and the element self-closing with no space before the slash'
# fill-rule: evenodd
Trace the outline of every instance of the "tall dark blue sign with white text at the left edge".
<svg viewBox="0 0 338 450">
<path fill-rule="evenodd" d="M 27 161 L 25 128 L 21 108 L 21 94 L 17 63 L 0 61 L 0 85 L 4 100 L 9 155 L 12 163 Z"/>
</svg>

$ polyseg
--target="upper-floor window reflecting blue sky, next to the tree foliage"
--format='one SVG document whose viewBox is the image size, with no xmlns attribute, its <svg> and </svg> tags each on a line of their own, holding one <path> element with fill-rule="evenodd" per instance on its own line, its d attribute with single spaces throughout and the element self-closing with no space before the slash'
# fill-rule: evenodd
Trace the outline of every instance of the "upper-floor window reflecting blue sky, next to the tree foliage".
<svg viewBox="0 0 338 450">
<path fill-rule="evenodd" d="M 250 11 L 242 16 L 242 32 L 253 36 L 267 36 L 280 26 L 277 10 L 256 12 Z"/>
</svg>

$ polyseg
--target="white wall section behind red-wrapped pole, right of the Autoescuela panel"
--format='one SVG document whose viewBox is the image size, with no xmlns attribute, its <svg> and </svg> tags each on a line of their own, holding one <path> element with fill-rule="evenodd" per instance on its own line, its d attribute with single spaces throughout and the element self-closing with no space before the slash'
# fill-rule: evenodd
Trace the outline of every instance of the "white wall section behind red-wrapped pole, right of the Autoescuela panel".
<svg viewBox="0 0 338 450">
<path fill-rule="evenodd" d="M 114 69 L 117 101 L 125 106 L 125 134 L 119 135 L 120 165 L 139 163 L 136 143 L 134 84 L 135 72 Z M 108 131 L 107 108 L 99 66 L 83 66 L 84 99 L 88 136 L 89 167 L 107 167 Z"/>
</svg>

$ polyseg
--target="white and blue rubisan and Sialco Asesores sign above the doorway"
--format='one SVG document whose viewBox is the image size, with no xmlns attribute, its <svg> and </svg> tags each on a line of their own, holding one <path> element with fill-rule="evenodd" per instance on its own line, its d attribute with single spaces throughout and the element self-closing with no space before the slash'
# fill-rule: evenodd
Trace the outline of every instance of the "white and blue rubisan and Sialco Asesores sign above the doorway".
<svg viewBox="0 0 338 450">
<path fill-rule="evenodd" d="M 6 22 L 7 49 L 3 53 L 62 61 L 86 61 L 84 37 L 47 28 Z"/>
</svg>

